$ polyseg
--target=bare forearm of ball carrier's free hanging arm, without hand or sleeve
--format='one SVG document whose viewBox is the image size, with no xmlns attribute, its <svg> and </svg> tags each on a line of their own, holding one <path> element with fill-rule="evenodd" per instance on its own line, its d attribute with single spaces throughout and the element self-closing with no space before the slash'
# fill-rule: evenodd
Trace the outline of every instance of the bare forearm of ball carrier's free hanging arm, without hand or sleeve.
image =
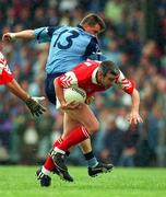
<svg viewBox="0 0 166 197">
<path fill-rule="evenodd" d="M 139 113 L 139 107 L 140 107 L 140 94 L 137 89 L 133 90 L 131 94 L 131 100 L 132 100 L 132 112 Z"/>
</svg>

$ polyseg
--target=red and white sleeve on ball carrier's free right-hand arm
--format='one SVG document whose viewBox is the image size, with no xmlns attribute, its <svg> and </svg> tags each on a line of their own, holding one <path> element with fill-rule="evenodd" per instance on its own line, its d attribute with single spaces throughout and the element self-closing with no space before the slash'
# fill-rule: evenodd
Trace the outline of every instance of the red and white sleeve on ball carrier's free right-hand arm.
<svg viewBox="0 0 166 197">
<path fill-rule="evenodd" d="M 116 84 L 128 94 L 132 94 L 133 89 L 135 86 L 134 81 L 128 80 L 121 71 L 120 71 L 119 77 L 116 80 Z"/>
</svg>

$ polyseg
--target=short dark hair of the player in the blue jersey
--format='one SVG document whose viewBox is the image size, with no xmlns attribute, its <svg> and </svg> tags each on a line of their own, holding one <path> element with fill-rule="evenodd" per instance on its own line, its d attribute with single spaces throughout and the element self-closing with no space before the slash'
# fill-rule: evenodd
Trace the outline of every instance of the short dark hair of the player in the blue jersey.
<svg viewBox="0 0 166 197">
<path fill-rule="evenodd" d="M 95 26 L 96 24 L 99 24 L 100 32 L 103 32 L 106 28 L 104 20 L 95 13 L 87 14 L 85 18 L 83 18 L 80 25 L 83 25 L 85 23 L 87 23 L 90 26 Z"/>
</svg>

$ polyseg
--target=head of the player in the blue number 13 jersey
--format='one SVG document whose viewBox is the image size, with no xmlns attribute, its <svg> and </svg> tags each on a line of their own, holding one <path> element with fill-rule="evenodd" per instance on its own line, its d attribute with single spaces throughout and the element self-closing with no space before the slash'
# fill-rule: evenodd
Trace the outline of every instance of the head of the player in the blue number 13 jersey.
<svg viewBox="0 0 166 197">
<path fill-rule="evenodd" d="M 94 35 L 97 36 L 100 32 L 103 32 L 105 30 L 105 22 L 103 21 L 103 19 L 94 13 L 91 13 L 88 15 L 86 15 L 80 23 L 81 26 L 83 26 L 83 28 Z"/>
</svg>

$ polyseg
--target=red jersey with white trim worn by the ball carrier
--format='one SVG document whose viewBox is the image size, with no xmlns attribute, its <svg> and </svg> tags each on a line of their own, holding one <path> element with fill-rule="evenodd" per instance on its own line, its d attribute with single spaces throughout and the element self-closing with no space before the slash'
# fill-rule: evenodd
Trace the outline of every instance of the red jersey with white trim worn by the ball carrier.
<svg viewBox="0 0 166 197">
<path fill-rule="evenodd" d="M 84 61 L 74 67 L 70 72 L 58 77 L 57 81 L 59 85 L 64 89 L 80 86 L 86 92 L 87 96 L 93 95 L 95 92 L 106 91 L 111 85 L 105 88 L 96 81 L 96 73 L 99 65 L 99 61 Z M 134 83 L 124 78 L 121 71 L 115 83 L 128 94 L 131 94 L 134 89 Z"/>
</svg>

